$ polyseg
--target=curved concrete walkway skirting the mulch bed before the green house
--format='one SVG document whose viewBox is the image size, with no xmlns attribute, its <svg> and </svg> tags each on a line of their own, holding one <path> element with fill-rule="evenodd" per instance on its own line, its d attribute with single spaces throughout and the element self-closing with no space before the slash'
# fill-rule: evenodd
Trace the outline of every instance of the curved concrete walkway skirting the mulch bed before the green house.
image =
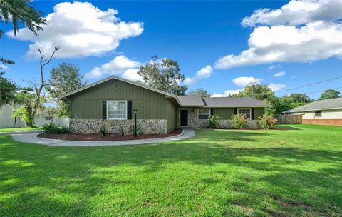
<svg viewBox="0 0 342 217">
<path fill-rule="evenodd" d="M 125 146 L 125 145 L 140 145 L 147 143 L 161 143 L 167 141 L 178 141 L 195 136 L 195 131 L 186 129 L 183 130 L 180 135 L 170 136 L 165 138 L 149 138 L 138 140 L 126 140 L 126 141 L 66 141 L 59 139 L 38 138 L 37 133 L 16 133 L 11 134 L 15 141 L 23 143 L 35 143 L 46 146 Z"/>
</svg>

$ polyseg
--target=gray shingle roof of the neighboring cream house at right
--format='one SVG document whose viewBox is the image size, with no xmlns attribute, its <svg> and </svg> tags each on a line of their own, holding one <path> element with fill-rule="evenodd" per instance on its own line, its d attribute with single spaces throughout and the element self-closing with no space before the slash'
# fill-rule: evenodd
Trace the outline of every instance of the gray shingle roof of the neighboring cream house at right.
<svg viewBox="0 0 342 217">
<path fill-rule="evenodd" d="M 294 109 L 283 111 L 283 113 L 294 113 L 294 112 L 326 110 L 326 109 L 342 109 L 342 97 L 336 98 L 336 99 L 324 99 L 324 100 L 314 101 L 304 106 L 299 106 Z"/>
</svg>

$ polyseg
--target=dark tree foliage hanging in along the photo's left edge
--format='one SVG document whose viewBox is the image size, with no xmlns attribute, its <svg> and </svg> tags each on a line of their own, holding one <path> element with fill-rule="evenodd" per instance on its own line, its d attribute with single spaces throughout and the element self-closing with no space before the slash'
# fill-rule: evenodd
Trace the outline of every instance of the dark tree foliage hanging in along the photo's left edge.
<svg viewBox="0 0 342 217">
<path fill-rule="evenodd" d="M 0 23 L 13 25 L 14 36 L 19 30 L 19 23 L 24 24 L 34 35 L 42 29 L 41 24 L 46 24 L 42 19 L 43 14 L 35 11 L 28 0 L 0 0 Z M 0 38 L 4 31 L 0 29 Z M 14 64 L 14 61 L 0 57 L 2 64 Z M 18 86 L 14 81 L 4 78 L 4 71 L 0 71 L 0 108 L 9 104 L 14 99 L 14 91 Z"/>
</svg>

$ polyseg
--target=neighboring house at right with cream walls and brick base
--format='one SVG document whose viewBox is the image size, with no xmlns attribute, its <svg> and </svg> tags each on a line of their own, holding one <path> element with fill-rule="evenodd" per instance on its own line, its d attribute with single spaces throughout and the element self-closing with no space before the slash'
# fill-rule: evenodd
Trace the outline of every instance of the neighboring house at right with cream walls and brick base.
<svg viewBox="0 0 342 217">
<path fill-rule="evenodd" d="M 342 126 L 342 98 L 314 101 L 283 113 L 302 115 L 302 123 L 306 124 Z"/>
</svg>

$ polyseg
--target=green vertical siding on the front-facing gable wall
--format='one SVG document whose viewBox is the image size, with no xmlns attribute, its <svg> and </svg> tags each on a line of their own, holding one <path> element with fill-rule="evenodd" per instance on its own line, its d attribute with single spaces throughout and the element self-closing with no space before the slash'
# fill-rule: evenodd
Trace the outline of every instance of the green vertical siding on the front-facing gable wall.
<svg viewBox="0 0 342 217">
<path fill-rule="evenodd" d="M 119 88 L 115 88 L 117 84 Z M 139 119 L 167 119 L 170 102 L 163 94 L 116 79 L 74 94 L 70 100 L 71 118 L 74 119 L 102 119 L 104 100 L 131 100 L 132 109 L 138 109 Z"/>
</svg>

